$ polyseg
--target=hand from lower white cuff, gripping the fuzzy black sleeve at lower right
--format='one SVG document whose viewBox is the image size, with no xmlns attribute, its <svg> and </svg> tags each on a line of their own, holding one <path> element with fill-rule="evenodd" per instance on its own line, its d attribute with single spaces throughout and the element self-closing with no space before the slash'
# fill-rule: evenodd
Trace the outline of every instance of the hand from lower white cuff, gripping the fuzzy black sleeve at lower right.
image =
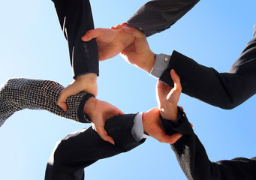
<svg viewBox="0 0 256 180">
<path fill-rule="evenodd" d="M 182 133 L 174 133 L 169 136 L 165 133 L 163 124 L 159 118 L 158 107 L 143 113 L 143 129 L 144 133 L 149 134 L 159 142 L 165 142 L 169 144 L 175 143 L 179 138 L 182 137 Z"/>
</svg>

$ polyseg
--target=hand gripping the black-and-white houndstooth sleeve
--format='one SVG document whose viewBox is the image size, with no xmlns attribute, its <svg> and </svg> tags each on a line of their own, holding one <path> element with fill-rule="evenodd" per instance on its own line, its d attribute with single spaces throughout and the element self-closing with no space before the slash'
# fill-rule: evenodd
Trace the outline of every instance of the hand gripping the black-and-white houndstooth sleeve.
<svg viewBox="0 0 256 180">
<path fill-rule="evenodd" d="M 86 74 L 77 77 L 73 83 L 71 83 L 68 87 L 62 90 L 61 95 L 59 96 L 59 100 L 57 101 L 57 105 L 62 108 L 65 112 L 68 110 L 66 105 L 66 100 L 71 95 L 77 95 L 77 93 L 85 91 L 92 95 L 97 96 L 97 74 Z"/>
</svg>

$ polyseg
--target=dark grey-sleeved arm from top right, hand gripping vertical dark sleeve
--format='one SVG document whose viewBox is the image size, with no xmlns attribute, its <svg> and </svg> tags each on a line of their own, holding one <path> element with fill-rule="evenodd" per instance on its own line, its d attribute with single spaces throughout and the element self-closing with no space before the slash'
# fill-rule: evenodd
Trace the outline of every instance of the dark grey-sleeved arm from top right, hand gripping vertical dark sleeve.
<svg viewBox="0 0 256 180">
<path fill-rule="evenodd" d="M 155 34 L 156 32 L 164 31 L 170 28 L 181 17 L 191 10 L 199 0 L 159 0 L 149 1 L 127 21 L 130 27 L 140 29 L 146 36 Z M 124 26 L 125 23 L 122 23 Z M 119 29 L 121 26 L 116 26 L 116 29 L 98 28 L 87 31 L 82 37 L 83 41 L 89 42 L 96 38 L 98 43 L 99 60 L 112 58 L 122 52 L 126 47 L 134 43 L 134 37 Z"/>
</svg>

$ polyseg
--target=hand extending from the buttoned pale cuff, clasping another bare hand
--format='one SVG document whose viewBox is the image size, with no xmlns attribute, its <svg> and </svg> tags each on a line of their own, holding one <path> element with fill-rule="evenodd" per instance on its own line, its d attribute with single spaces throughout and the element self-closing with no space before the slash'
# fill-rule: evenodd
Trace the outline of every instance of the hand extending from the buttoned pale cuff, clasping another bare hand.
<svg viewBox="0 0 256 180">
<path fill-rule="evenodd" d="M 121 29 L 135 37 L 134 43 L 121 52 L 122 58 L 149 73 L 155 65 L 155 54 L 150 50 L 145 34 L 128 25 L 122 26 Z"/>
</svg>

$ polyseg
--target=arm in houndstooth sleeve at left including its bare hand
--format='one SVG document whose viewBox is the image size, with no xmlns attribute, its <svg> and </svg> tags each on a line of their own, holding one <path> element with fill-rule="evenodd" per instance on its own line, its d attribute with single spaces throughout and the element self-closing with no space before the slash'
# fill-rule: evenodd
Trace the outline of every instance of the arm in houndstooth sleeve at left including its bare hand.
<svg viewBox="0 0 256 180">
<path fill-rule="evenodd" d="M 57 104 L 64 87 L 49 80 L 11 79 L 0 89 L 0 125 L 16 111 L 47 110 L 50 113 L 79 122 L 91 122 L 102 139 L 114 143 L 104 130 L 105 121 L 123 114 L 117 107 L 80 92 L 68 97 L 68 110 L 64 112 Z"/>
</svg>

